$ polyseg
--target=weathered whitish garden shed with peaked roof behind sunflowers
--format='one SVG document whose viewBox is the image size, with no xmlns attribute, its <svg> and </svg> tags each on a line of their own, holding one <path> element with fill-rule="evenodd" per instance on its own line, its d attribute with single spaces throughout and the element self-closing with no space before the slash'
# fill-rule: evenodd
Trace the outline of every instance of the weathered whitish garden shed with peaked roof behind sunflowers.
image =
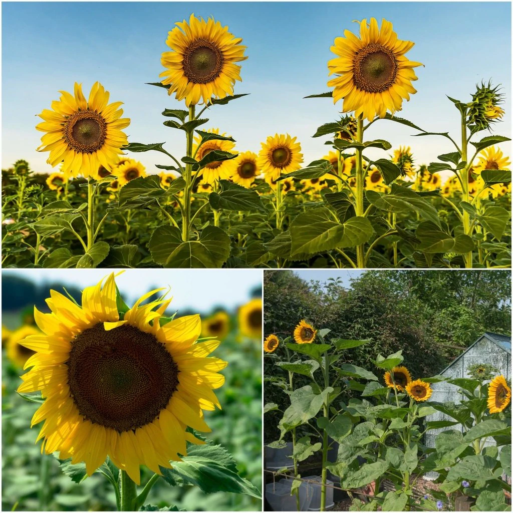
<svg viewBox="0 0 513 513">
<path fill-rule="evenodd" d="M 469 378 L 467 368 L 472 364 L 488 363 L 499 370 L 506 380 L 511 379 L 511 337 L 490 333 L 485 331 L 481 337 L 476 340 L 466 351 L 454 360 L 442 372 L 441 376 L 446 378 Z M 432 383 L 433 390 L 431 401 L 444 403 L 453 401 L 459 403 L 461 395 L 458 393 L 458 387 L 450 383 L 440 382 Z M 452 420 L 450 417 L 437 411 L 426 417 L 427 421 Z M 461 425 L 451 426 L 450 428 L 433 429 L 426 433 L 426 445 L 435 447 L 435 439 L 441 431 L 447 429 L 461 429 Z M 488 443 L 488 442 L 487 442 Z M 490 439 L 490 444 L 493 441 Z M 430 472 L 431 474 L 431 472 Z"/>
</svg>

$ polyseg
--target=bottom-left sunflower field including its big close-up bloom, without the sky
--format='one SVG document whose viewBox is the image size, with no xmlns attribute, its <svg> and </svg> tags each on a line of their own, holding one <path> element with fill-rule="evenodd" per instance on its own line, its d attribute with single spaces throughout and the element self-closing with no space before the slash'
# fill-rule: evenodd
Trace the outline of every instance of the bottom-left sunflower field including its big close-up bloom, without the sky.
<svg viewBox="0 0 513 513">
<path fill-rule="evenodd" d="M 34 314 L 28 298 L 16 310 L 4 306 L 2 509 L 261 510 L 260 297 L 233 311 L 205 311 L 200 322 L 195 314 L 165 317 L 172 310 L 158 290 L 129 308 L 113 275 L 103 281 L 82 293 L 46 290 L 53 313 Z M 109 322 L 100 347 L 95 331 L 103 328 L 95 323 L 102 319 Z M 73 349 L 62 332 L 47 336 L 51 329 L 77 333 Z M 171 357 L 154 349 L 152 336 L 166 337 L 157 346 Z M 205 358 L 211 351 L 215 358 Z M 93 357 L 100 363 L 89 365 Z M 64 358 L 67 380 L 60 379 Z M 134 388 L 145 375 L 152 389 Z M 157 412 L 170 392 L 167 409 Z M 85 417 L 76 417 L 77 404 Z M 150 419 L 154 413 L 159 418 Z"/>
</svg>

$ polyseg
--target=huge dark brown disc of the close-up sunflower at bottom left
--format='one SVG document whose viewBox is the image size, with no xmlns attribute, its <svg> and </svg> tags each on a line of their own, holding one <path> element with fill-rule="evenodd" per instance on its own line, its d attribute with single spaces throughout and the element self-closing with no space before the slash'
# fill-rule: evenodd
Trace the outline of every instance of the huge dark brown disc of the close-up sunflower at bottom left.
<svg viewBox="0 0 513 513">
<path fill-rule="evenodd" d="M 179 384 L 179 370 L 163 344 L 133 326 L 105 331 L 103 323 L 72 342 L 68 384 L 80 415 L 116 431 L 152 422 Z"/>
</svg>

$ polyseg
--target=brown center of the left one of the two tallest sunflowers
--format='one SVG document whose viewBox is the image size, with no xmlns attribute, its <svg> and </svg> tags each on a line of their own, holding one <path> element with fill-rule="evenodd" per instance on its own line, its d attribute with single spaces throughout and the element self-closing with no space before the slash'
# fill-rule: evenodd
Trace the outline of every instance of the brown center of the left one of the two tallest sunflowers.
<svg viewBox="0 0 513 513">
<path fill-rule="evenodd" d="M 208 84 L 223 70 L 224 56 L 210 41 L 198 39 L 184 53 L 184 74 L 194 84 Z"/>
</svg>

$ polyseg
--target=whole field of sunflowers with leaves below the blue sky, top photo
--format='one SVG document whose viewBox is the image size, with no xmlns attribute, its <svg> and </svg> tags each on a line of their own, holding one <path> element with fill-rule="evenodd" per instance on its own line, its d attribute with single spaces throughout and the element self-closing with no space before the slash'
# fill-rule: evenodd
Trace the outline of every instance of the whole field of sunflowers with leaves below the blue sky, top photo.
<svg viewBox="0 0 513 513">
<path fill-rule="evenodd" d="M 213 18 L 176 23 L 161 82 L 145 86 L 183 102 L 162 111 L 182 154 L 128 141 L 122 98 L 109 103 L 98 82 L 49 97 L 38 150 L 56 171 L 23 160 L 2 171 L 3 266 L 510 267 L 510 161 L 498 147 L 509 138 L 492 132 L 504 115 L 501 89 L 490 81 L 468 98 L 441 94 L 461 126 L 453 137 L 443 120 L 433 128 L 396 116 L 422 64 L 406 56 L 414 43 L 392 23 L 363 19 L 359 33 L 334 36 L 330 90 L 302 100 L 334 103 L 333 118 L 312 127 L 326 151 L 310 163 L 293 133 L 239 148 L 229 127 L 215 127 L 216 111 L 248 92 L 234 90 L 246 47 Z M 392 148 L 394 123 L 437 137 L 438 160 Z M 383 139 L 366 139 L 371 125 Z M 382 156 L 370 159 L 369 148 Z M 159 174 L 133 158 L 147 151 L 161 154 Z"/>
</svg>

